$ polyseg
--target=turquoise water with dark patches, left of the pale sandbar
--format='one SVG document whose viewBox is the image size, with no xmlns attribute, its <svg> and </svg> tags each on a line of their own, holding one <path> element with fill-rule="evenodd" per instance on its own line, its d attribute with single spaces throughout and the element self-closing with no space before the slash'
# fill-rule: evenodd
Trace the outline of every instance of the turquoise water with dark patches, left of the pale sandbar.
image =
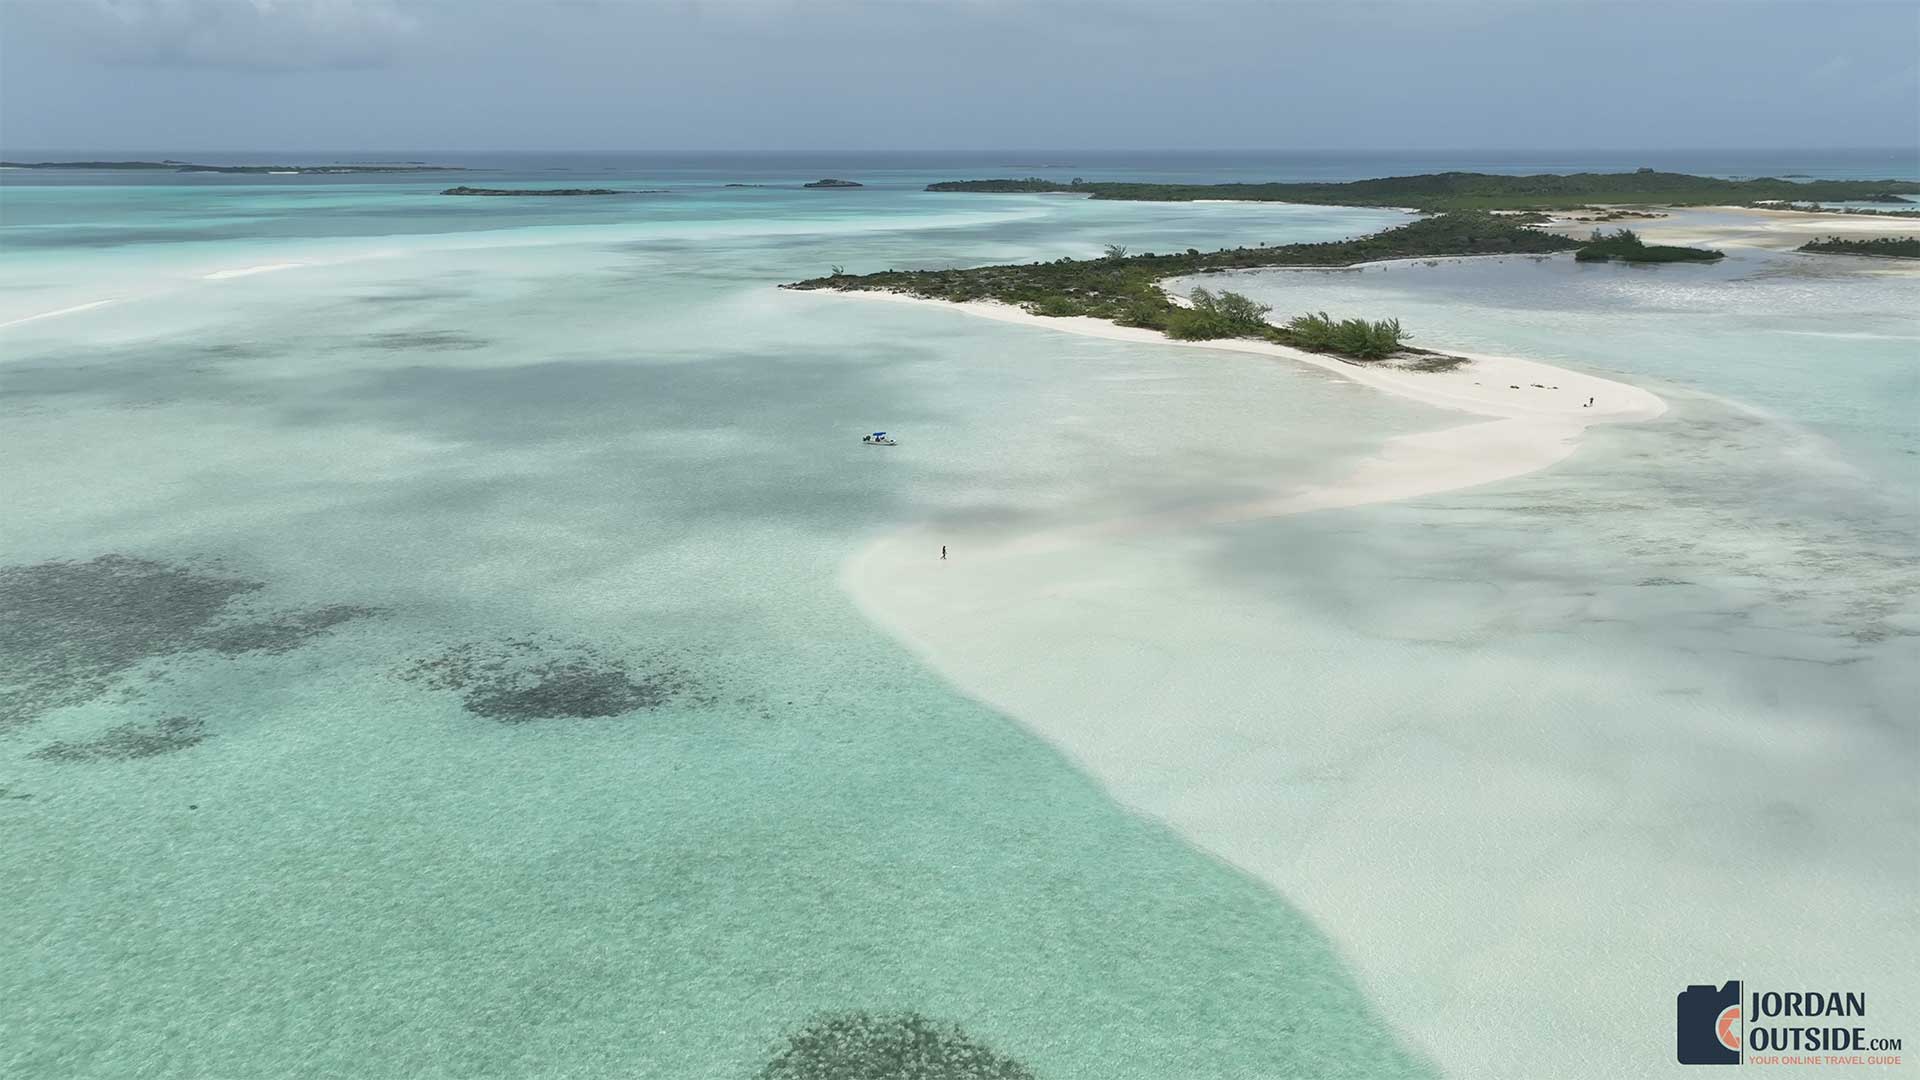
<svg viewBox="0 0 1920 1080">
<path fill-rule="evenodd" d="M 1284 899 L 835 588 L 1096 475 L 1025 432 L 1233 373 L 772 288 L 1398 215 L 432 186 L 4 192 L 0 1072 L 749 1076 L 839 1009 L 1050 1078 L 1427 1072 Z M 1411 423 L 1296 382 L 1302 459 Z"/>
</svg>

